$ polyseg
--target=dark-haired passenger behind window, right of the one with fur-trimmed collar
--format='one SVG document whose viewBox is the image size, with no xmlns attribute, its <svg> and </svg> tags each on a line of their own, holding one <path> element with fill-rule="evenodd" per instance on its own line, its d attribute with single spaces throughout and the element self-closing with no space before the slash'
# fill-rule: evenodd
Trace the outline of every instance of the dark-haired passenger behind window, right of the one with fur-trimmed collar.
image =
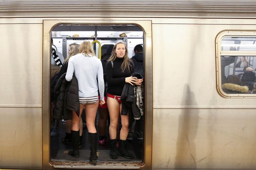
<svg viewBox="0 0 256 170">
<path fill-rule="evenodd" d="M 248 70 L 250 70 L 250 68 L 251 67 L 248 67 Z M 255 82 L 255 73 L 253 69 L 251 68 L 251 71 L 245 71 L 241 76 L 241 80 L 242 86 L 247 86 L 249 88 L 248 93 L 251 93 L 251 91 L 254 89 L 253 84 Z"/>
</svg>

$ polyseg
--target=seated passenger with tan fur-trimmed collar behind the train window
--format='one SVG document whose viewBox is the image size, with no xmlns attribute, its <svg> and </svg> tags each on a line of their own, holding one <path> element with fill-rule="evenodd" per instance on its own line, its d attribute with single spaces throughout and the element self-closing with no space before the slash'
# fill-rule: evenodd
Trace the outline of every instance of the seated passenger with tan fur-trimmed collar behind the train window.
<svg viewBox="0 0 256 170">
<path fill-rule="evenodd" d="M 241 86 L 241 83 L 240 78 L 232 74 L 227 76 L 225 83 L 221 87 L 225 93 L 247 93 L 249 88 Z"/>
</svg>

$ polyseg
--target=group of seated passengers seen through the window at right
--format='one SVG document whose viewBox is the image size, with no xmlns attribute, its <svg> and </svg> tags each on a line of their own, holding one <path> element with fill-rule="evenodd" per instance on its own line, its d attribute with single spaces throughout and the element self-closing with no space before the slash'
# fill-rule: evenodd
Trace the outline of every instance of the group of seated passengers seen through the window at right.
<svg viewBox="0 0 256 170">
<path fill-rule="evenodd" d="M 244 67 L 244 73 L 229 75 L 222 81 L 225 93 L 256 93 L 256 77 L 253 68 Z"/>
</svg>

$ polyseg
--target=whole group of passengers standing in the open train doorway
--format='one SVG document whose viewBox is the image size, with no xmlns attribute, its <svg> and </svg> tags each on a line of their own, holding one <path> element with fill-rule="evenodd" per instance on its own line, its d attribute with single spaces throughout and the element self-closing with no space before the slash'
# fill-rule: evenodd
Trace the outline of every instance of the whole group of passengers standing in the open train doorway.
<svg viewBox="0 0 256 170">
<path fill-rule="evenodd" d="M 63 116 L 66 120 L 66 136 L 62 141 L 72 142 L 73 149 L 69 154 L 79 158 L 79 149 L 83 147 L 81 117 L 84 110 L 90 146 L 89 161 L 95 165 L 98 158 L 95 118 L 99 107 L 98 143 L 103 145 L 106 141 L 104 133 L 109 115 L 110 158 L 117 159 L 121 155 L 133 159 L 133 154 L 125 145 L 131 117 L 140 120 L 143 115 L 143 73 L 138 69 L 138 65 L 143 68 L 143 47 L 137 45 L 134 48 L 136 55 L 131 59 L 123 42 L 109 46 L 102 60 L 95 56 L 90 41 L 83 41 L 80 45 L 70 44 L 69 56 L 65 61 L 61 53 L 54 49 L 51 51 L 52 67 L 55 65 L 60 68 L 60 71 L 51 75 L 51 107 L 55 120 L 51 136 L 59 134 L 56 130 Z"/>
</svg>

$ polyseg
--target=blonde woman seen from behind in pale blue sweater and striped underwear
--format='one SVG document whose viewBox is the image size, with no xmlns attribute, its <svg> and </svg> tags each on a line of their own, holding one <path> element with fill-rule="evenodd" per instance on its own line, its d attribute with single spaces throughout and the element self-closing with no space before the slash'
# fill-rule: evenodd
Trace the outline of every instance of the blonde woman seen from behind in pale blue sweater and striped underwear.
<svg viewBox="0 0 256 170">
<path fill-rule="evenodd" d="M 90 145 L 89 160 L 93 164 L 96 164 L 97 132 L 95 128 L 95 117 L 99 103 L 100 105 L 105 103 L 104 79 L 101 61 L 95 57 L 90 41 L 83 41 L 79 47 L 79 54 L 69 59 L 66 80 L 71 81 L 73 74 L 75 74 L 78 81 L 80 113 L 77 115 L 75 111 L 72 111 L 72 155 L 75 158 L 79 158 L 79 122 L 81 120 L 81 112 L 83 108 L 85 108 L 86 126 Z M 98 98 L 98 90 L 100 99 Z"/>
</svg>

